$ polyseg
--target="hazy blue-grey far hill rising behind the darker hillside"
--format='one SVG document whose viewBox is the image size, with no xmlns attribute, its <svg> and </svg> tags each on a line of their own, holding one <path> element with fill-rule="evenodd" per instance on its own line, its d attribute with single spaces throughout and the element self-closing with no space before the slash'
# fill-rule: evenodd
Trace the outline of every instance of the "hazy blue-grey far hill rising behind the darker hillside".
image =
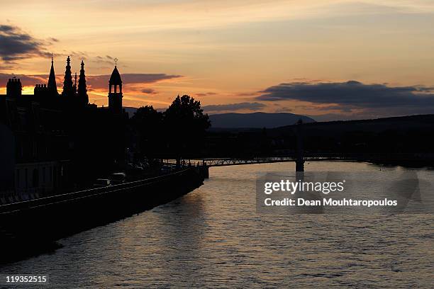
<svg viewBox="0 0 434 289">
<path fill-rule="evenodd" d="M 278 128 L 294 125 L 299 119 L 315 123 L 313 118 L 294 113 L 221 113 L 209 115 L 211 128 Z"/>
</svg>

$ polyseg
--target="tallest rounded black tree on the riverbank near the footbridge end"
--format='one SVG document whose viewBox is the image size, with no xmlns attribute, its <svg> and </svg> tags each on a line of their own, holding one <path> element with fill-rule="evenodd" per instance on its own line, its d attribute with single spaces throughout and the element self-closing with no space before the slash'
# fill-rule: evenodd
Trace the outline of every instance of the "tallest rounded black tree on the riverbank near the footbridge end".
<svg viewBox="0 0 434 289">
<path fill-rule="evenodd" d="M 201 102 L 184 95 L 177 96 L 164 113 L 168 148 L 180 164 L 181 157 L 191 156 L 201 149 L 205 130 L 211 126 Z"/>
</svg>

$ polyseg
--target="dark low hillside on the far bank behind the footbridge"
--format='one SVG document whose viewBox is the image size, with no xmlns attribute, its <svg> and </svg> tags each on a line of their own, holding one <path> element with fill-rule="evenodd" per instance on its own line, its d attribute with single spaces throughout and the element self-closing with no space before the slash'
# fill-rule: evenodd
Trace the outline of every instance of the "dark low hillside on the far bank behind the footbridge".
<svg viewBox="0 0 434 289">
<path fill-rule="evenodd" d="M 269 128 L 221 128 L 208 130 L 209 157 L 289 155 L 296 151 L 296 129 L 301 129 L 308 153 L 434 154 L 434 115 L 410 115 L 370 120 L 345 120 Z M 402 161 L 402 162 L 401 162 Z M 396 164 L 434 166 L 426 162 Z M 393 164 L 393 159 L 386 162 Z"/>
</svg>

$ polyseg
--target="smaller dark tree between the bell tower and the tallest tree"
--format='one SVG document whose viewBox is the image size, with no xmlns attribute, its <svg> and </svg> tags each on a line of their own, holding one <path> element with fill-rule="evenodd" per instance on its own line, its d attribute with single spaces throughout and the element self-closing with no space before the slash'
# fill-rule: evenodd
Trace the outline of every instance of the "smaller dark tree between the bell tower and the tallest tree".
<svg viewBox="0 0 434 289">
<path fill-rule="evenodd" d="M 156 111 L 152 106 L 142 106 L 134 113 L 130 122 L 138 134 L 141 155 L 152 161 L 165 146 L 162 113 Z"/>
</svg>

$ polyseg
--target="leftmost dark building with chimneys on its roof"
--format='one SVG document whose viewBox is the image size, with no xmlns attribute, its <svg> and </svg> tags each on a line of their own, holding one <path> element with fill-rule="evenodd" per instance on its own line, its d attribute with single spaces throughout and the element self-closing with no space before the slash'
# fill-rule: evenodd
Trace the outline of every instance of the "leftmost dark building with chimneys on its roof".
<svg viewBox="0 0 434 289">
<path fill-rule="evenodd" d="M 68 170 L 62 110 L 45 101 L 52 97 L 46 84 L 36 84 L 34 95 L 21 95 L 21 88 L 19 79 L 9 79 L 6 96 L 0 96 L 1 123 L 11 132 L 2 142 L 13 155 L 13 171 L 4 162 L 0 170 L 14 179 L 12 188 L 0 192 L 1 203 L 55 191 L 64 186 Z"/>
</svg>

